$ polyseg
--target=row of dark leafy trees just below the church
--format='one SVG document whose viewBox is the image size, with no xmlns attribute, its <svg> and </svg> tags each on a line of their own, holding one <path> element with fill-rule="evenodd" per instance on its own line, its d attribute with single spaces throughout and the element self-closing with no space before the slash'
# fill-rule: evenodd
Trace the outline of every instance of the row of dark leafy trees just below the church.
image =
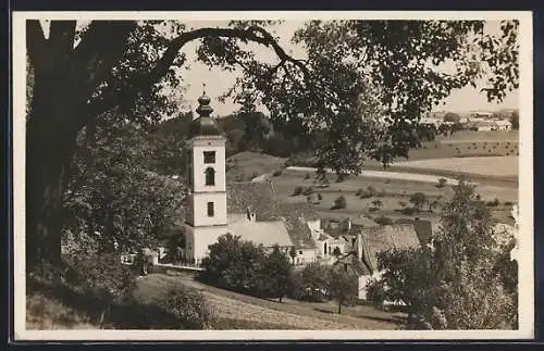
<svg viewBox="0 0 544 351">
<path fill-rule="evenodd" d="M 357 277 L 343 266 L 311 263 L 295 272 L 289 251 L 274 247 L 267 253 L 262 247 L 231 234 L 221 236 L 209 249 L 200 279 L 221 288 L 280 302 L 284 297 L 311 301 L 331 298 L 338 301 L 338 313 L 342 305 L 357 298 Z"/>
</svg>

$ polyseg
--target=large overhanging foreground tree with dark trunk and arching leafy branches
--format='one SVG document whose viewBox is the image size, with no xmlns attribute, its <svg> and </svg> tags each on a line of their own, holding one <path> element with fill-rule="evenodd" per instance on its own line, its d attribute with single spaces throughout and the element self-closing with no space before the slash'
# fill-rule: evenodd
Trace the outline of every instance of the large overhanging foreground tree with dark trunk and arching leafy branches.
<svg viewBox="0 0 544 351">
<path fill-rule="evenodd" d="M 320 164 L 359 172 L 367 156 L 407 155 L 417 121 L 453 89 L 487 77 L 490 100 L 517 88 L 517 21 L 489 35 L 483 21 L 311 21 L 296 33 L 308 58 L 289 55 L 268 29 L 272 21 L 232 21 L 187 28 L 178 21 L 39 21 L 26 23 L 33 87 L 27 96 L 27 259 L 58 263 L 64 193 L 79 133 L 100 116 L 147 127 L 177 110 L 188 66 L 198 60 L 242 70 L 225 93 L 251 112 L 258 103 L 276 126 L 297 126 L 322 140 Z M 273 52 L 263 63 L 254 42 Z M 443 73 L 450 62 L 454 73 Z M 180 93 L 181 92 L 181 93 Z"/>
</svg>

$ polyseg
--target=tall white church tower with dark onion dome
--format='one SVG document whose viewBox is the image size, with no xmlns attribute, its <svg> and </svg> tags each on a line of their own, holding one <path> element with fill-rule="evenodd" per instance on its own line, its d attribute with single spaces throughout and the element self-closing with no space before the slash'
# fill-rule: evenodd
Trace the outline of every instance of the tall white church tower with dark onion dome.
<svg viewBox="0 0 544 351">
<path fill-rule="evenodd" d="M 185 217 L 185 256 L 200 264 L 208 246 L 227 233 L 226 225 L 226 139 L 210 114 L 206 91 L 198 99 L 199 116 L 189 124 L 187 142 L 188 202 Z"/>
</svg>

